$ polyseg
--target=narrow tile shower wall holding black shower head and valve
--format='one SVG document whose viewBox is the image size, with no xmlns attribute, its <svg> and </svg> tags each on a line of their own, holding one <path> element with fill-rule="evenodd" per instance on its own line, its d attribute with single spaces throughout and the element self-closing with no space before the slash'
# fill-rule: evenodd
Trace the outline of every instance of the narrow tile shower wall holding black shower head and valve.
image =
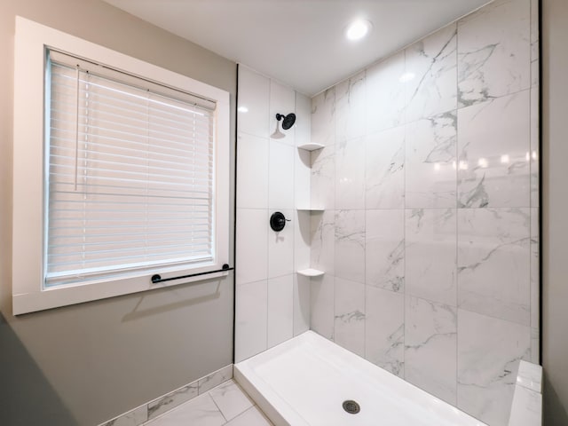
<svg viewBox="0 0 568 426">
<path fill-rule="evenodd" d="M 239 66 L 235 362 L 310 327 L 310 153 L 296 146 L 311 136 L 311 99 Z M 296 114 L 296 125 L 270 138 L 275 115 Z M 274 233 L 269 218 L 290 219 Z"/>
</svg>

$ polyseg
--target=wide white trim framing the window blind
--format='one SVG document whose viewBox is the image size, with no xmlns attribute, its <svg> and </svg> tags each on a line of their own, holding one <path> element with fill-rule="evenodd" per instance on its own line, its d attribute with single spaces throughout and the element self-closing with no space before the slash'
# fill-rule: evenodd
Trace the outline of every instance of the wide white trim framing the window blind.
<svg viewBox="0 0 568 426">
<path fill-rule="evenodd" d="M 214 263 L 190 270 L 140 272 L 136 276 L 122 279 L 90 280 L 76 286 L 43 288 L 43 93 L 46 46 L 155 82 L 167 82 L 173 88 L 217 102 L 217 255 Z M 151 282 L 154 273 L 160 273 L 162 279 L 167 279 L 189 273 L 214 271 L 221 269 L 223 264 L 229 264 L 229 114 L 227 91 L 17 16 L 14 43 L 13 313 L 36 312 L 227 275 L 228 272 L 217 272 L 158 284 Z"/>
</svg>

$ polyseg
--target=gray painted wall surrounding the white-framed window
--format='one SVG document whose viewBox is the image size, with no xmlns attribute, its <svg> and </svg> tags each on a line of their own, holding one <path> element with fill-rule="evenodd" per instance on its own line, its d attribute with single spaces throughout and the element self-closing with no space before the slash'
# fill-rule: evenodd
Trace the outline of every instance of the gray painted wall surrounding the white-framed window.
<svg viewBox="0 0 568 426">
<path fill-rule="evenodd" d="M 229 91 L 232 111 L 236 65 L 100 0 L 0 2 L 0 423 L 97 424 L 231 364 L 233 276 L 12 316 L 17 14 Z"/>
</svg>

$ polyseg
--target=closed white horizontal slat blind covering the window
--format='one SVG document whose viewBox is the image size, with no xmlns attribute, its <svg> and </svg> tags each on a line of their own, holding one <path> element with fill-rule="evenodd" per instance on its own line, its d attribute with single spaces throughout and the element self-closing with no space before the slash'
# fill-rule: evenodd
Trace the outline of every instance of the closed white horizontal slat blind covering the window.
<svg viewBox="0 0 568 426">
<path fill-rule="evenodd" d="M 49 52 L 45 286 L 215 256 L 215 103 Z"/>
</svg>

